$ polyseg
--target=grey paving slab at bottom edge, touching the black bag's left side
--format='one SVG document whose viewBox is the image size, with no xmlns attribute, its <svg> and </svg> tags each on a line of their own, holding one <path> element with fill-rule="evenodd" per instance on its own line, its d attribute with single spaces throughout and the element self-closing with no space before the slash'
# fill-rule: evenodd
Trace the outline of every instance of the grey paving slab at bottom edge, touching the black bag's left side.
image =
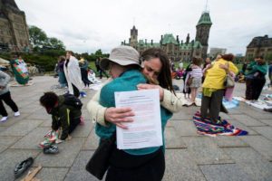
<svg viewBox="0 0 272 181">
<path fill-rule="evenodd" d="M 74 160 L 73 166 L 69 170 L 65 181 L 98 181 L 98 179 L 92 176 L 89 172 L 85 170 L 89 158 L 92 157 L 93 151 L 81 151 Z"/>
</svg>

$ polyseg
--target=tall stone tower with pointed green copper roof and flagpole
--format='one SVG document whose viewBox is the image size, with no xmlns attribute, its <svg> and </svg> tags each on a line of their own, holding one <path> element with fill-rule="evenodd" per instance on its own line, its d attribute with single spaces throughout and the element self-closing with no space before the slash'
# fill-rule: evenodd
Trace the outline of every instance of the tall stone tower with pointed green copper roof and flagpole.
<svg viewBox="0 0 272 181">
<path fill-rule="evenodd" d="M 209 17 L 209 12 L 203 12 L 199 19 L 199 23 L 197 24 L 197 33 L 196 33 L 196 41 L 201 43 L 203 49 L 201 53 L 202 58 L 207 57 L 208 52 L 208 41 L 209 41 L 209 29 L 211 26 L 211 21 Z"/>
</svg>

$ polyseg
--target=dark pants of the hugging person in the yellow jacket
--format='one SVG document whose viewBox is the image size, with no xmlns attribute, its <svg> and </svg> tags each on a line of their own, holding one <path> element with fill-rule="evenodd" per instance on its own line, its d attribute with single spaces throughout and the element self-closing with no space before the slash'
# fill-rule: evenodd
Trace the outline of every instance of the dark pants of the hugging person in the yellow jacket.
<svg viewBox="0 0 272 181">
<path fill-rule="evenodd" d="M 219 112 L 222 110 L 224 93 L 225 90 L 216 90 L 211 93 L 211 97 L 203 95 L 200 108 L 202 118 L 210 116 L 211 120 L 219 119 Z"/>
</svg>

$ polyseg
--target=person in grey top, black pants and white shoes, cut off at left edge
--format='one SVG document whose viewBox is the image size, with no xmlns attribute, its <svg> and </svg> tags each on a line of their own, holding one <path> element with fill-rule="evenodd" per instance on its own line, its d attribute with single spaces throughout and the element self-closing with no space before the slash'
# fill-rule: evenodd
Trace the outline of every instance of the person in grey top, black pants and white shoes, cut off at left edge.
<svg viewBox="0 0 272 181">
<path fill-rule="evenodd" d="M 2 115 L 0 122 L 5 122 L 7 120 L 7 112 L 2 100 L 4 100 L 5 103 L 15 112 L 15 117 L 20 116 L 18 107 L 10 95 L 9 87 L 7 85 L 9 80 L 10 76 L 4 71 L 0 71 L 0 114 Z"/>
</svg>

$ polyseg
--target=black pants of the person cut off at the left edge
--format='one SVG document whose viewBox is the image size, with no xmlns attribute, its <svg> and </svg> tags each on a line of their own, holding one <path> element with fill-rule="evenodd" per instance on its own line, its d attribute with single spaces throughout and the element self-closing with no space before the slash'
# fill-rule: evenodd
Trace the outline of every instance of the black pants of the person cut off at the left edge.
<svg viewBox="0 0 272 181">
<path fill-rule="evenodd" d="M 5 103 L 14 111 L 17 112 L 18 111 L 18 107 L 15 104 L 15 101 L 12 100 L 11 95 L 10 95 L 10 91 L 6 92 L 5 94 L 0 95 L 0 114 L 5 117 L 7 116 L 7 112 L 5 110 L 3 101 L 5 101 Z"/>
</svg>

